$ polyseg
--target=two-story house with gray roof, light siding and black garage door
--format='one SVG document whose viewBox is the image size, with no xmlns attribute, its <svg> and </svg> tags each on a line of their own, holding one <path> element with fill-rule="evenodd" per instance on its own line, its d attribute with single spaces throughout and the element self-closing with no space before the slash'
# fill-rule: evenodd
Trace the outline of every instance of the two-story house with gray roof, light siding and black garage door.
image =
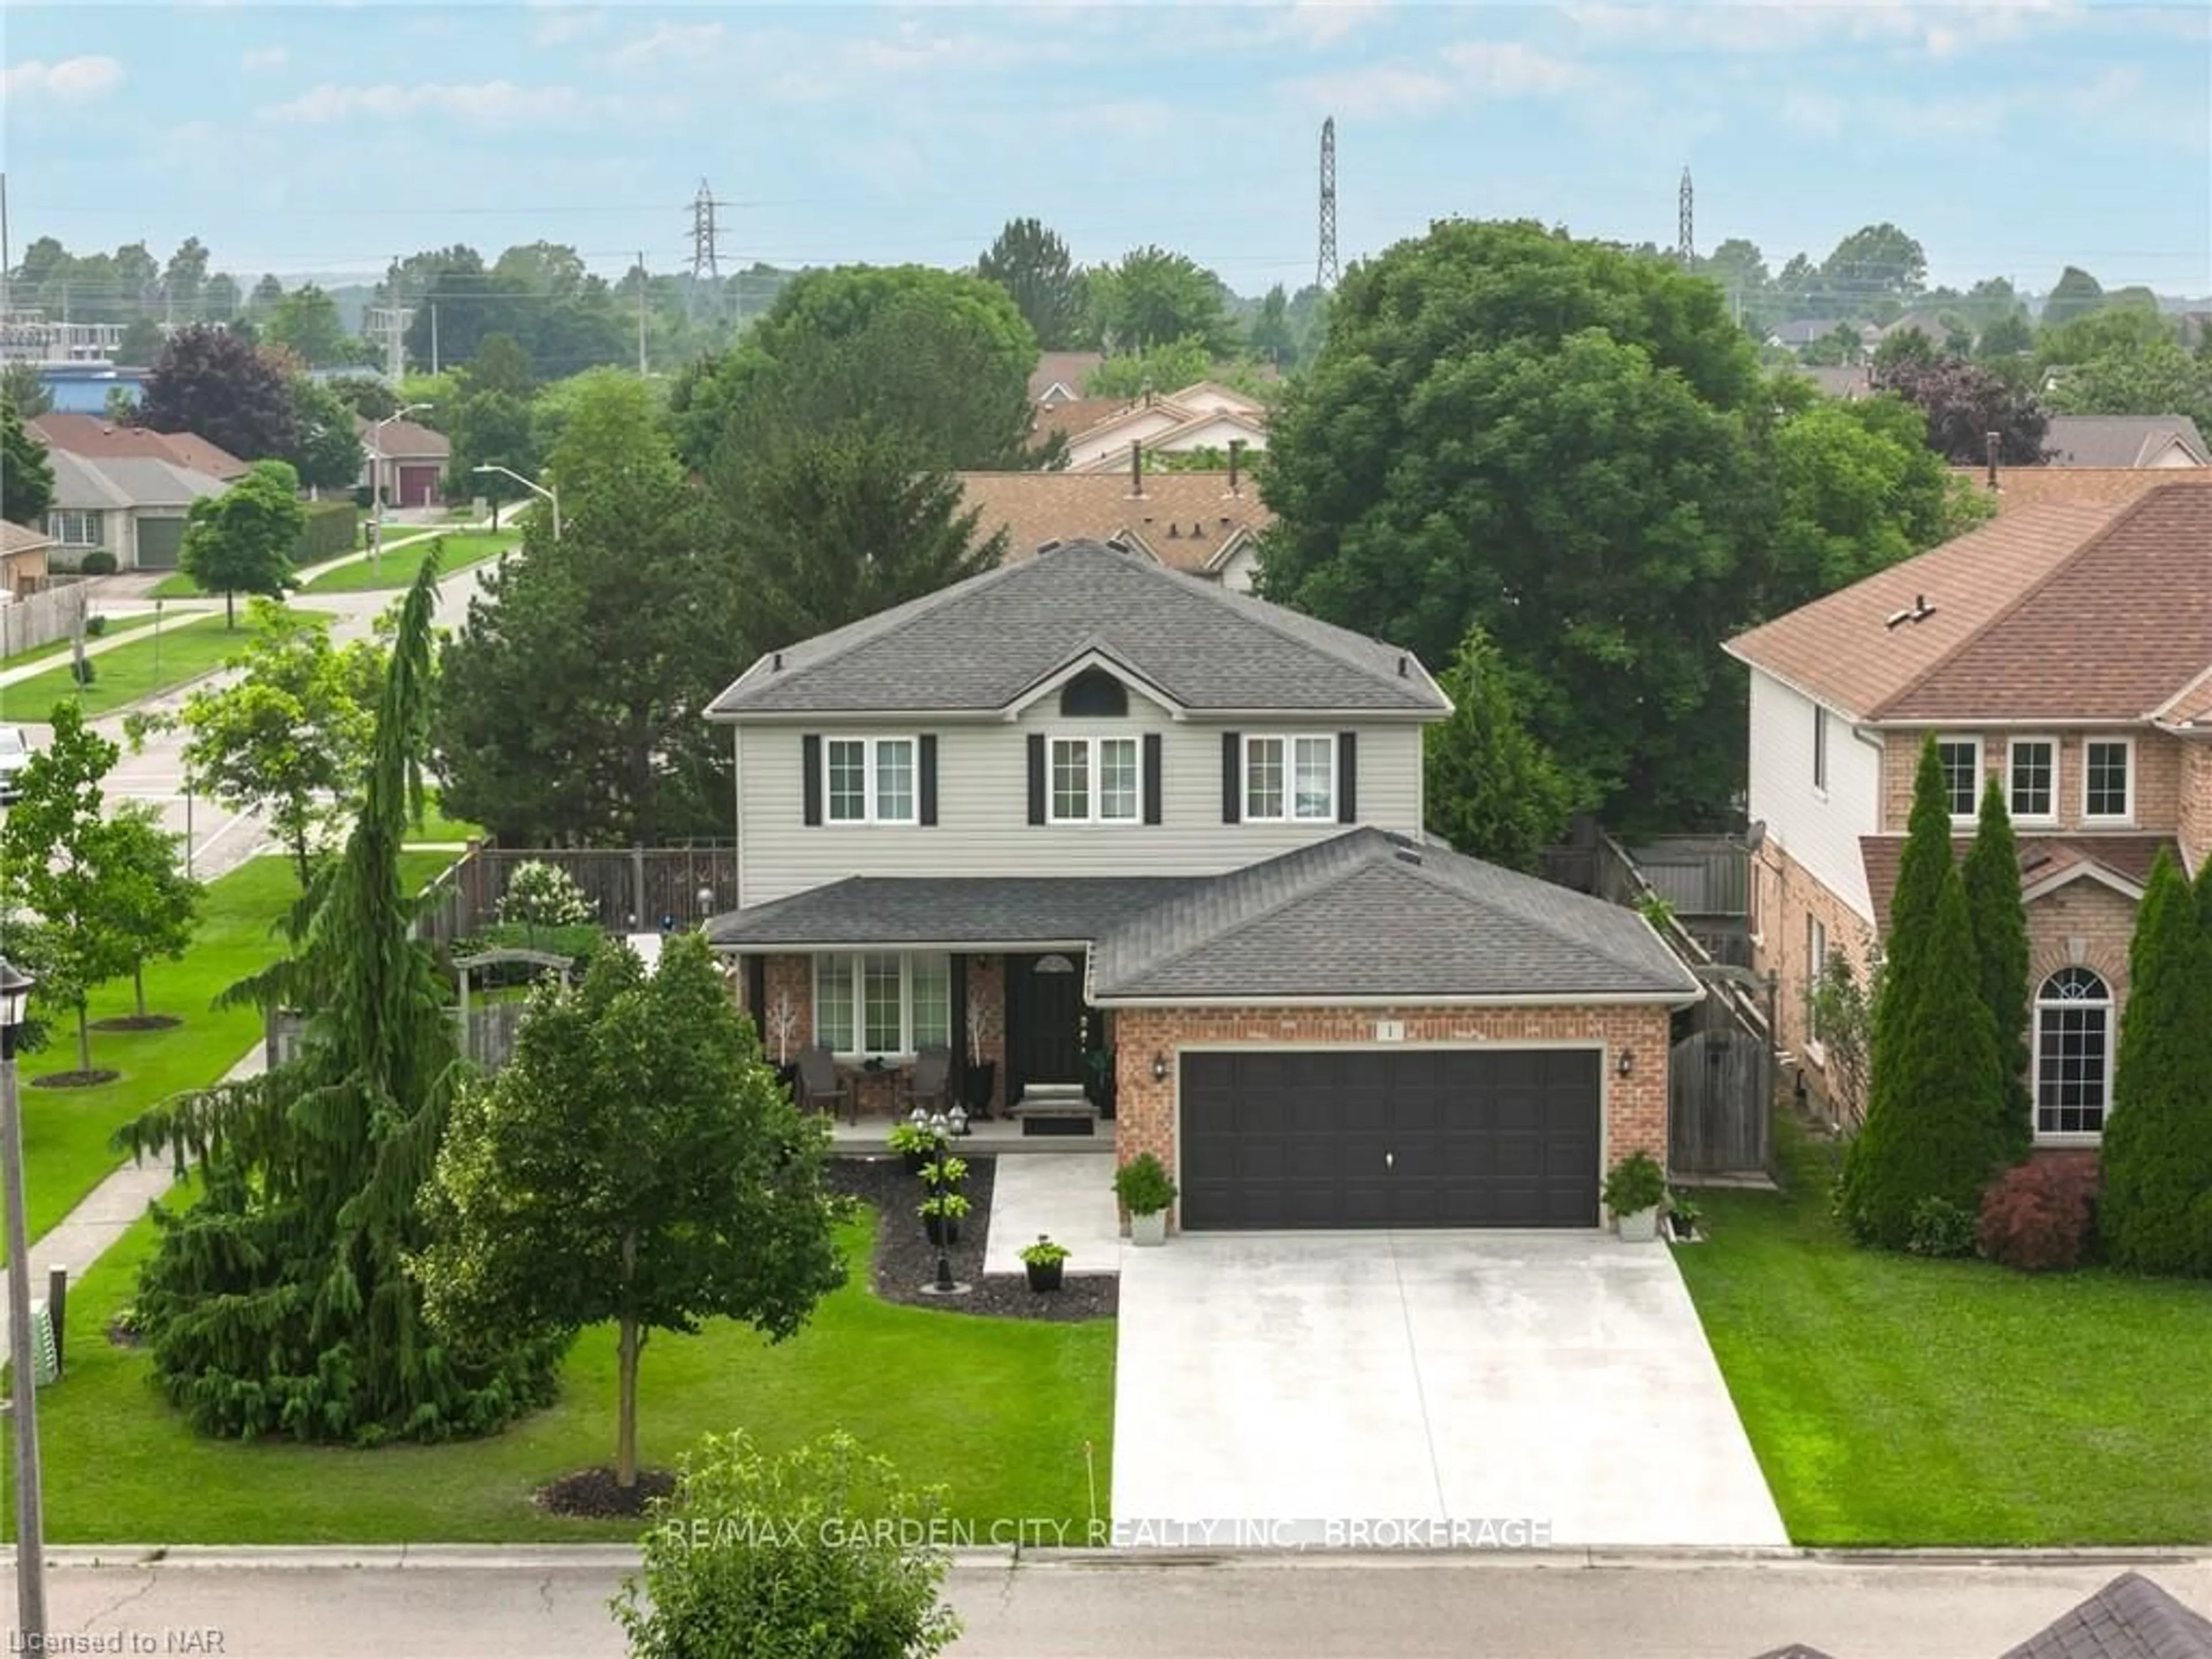
<svg viewBox="0 0 2212 1659">
<path fill-rule="evenodd" d="M 1115 1079 L 1183 1228 L 1573 1225 L 1666 1157 L 1635 911 L 1422 838 L 1405 650 L 1068 542 L 752 664 L 737 743 L 763 1031 L 949 1048 L 998 1108 Z"/>
</svg>

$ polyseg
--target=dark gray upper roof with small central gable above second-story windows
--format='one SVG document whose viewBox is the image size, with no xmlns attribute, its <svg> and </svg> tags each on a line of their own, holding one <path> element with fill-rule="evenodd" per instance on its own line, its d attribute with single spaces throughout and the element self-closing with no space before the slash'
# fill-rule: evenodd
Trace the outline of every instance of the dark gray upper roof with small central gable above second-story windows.
<svg viewBox="0 0 2212 1659">
<path fill-rule="evenodd" d="M 1197 710 L 1444 710 L 1396 646 L 1068 542 L 761 659 L 708 712 L 995 710 L 1091 648 Z"/>
</svg>

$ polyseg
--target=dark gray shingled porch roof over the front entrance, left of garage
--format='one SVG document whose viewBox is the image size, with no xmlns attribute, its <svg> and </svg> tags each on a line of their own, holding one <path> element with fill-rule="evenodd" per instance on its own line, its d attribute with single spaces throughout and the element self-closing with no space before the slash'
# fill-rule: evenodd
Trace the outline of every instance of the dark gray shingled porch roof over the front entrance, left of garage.
<svg viewBox="0 0 2212 1659">
<path fill-rule="evenodd" d="M 1203 876 L 847 876 L 714 916 L 710 945 L 1066 945 Z"/>
</svg>

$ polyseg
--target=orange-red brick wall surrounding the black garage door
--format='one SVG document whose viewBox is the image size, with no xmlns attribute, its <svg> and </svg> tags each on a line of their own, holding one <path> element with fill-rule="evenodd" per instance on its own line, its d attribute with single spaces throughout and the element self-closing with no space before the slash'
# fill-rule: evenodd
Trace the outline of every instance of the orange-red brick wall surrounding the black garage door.
<svg viewBox="0 0 2212 1659">
<path fill-rule="evenodd" d="M 1371 1046 L 1378 1020 L 1405 1022 L 1405 1042 L 1601 1042 L 1604 1148 L 1601 1161 L 1646 1150 L 1666 1164 L 1668 1009 L 1659 1006 L 1528 1006 L 1528 1009 L 1115 1009 L 1115 1157 L 1128 1164 L 1152 1152 L 1175 1172 L 1175 1093 L 1188 1044 L 1252 1044 L 1316 1048 Z M 1621 1077 L 1615 1062 L 1635 1055 Z M 1152 1077 L 1152 1057 L 1166 1055 L 1168 1077 Z"/>
</svg>

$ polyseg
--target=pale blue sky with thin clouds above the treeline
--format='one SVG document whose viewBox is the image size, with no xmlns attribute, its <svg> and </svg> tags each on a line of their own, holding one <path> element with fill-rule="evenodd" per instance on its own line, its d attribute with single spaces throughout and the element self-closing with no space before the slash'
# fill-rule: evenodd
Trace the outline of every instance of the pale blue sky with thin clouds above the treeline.
<svg viewBox="0 0 2212 1659">
<path fill-rule="evenodd" d="M 1312 279 L 1338 126 L 1345 263 L 1429 219 L 1750 237 L 1889 219 L 1933 281 L 2212 294 L 2212 9 L 2088 0 L 1310 4 L 7 4 L 11 248 L 186 234 L 215 268 L 369 272 L 467 241 L 688 261 L 975 257 L 1037 215 Z"/>
</svg>

